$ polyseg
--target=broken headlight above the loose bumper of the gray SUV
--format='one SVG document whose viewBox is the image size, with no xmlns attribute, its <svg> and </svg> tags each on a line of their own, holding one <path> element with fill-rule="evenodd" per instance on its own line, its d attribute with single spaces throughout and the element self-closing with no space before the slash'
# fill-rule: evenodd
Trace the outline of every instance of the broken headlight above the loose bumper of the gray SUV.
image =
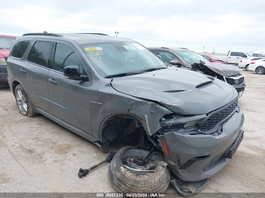
<svg viewBox="0 0 265 198">
<path fill-rule="evenodd" d="M 176 132 L 187 132 L 196 131 L 201 127 L 204 119 L 207 117 L 206 114 L 201 115 L 177 115 L 173 114 L 172 118 L 166 119 L 162 118 L 160 121 L 160 126 L 162 132 L 176 131 Z"/>
</svg>

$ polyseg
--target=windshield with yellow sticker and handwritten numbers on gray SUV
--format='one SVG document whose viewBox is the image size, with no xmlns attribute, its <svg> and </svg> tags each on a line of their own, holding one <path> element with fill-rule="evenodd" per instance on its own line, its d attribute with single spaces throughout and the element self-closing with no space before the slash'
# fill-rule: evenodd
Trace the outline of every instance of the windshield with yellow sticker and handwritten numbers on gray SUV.
<svg viewBox="0 0 265 198">
<path fill-rule="evenodd" d="M 79 47 L 103 77 L 167 67 L 156 55 L 136 42 L 87 43 Z"/>
</svg>

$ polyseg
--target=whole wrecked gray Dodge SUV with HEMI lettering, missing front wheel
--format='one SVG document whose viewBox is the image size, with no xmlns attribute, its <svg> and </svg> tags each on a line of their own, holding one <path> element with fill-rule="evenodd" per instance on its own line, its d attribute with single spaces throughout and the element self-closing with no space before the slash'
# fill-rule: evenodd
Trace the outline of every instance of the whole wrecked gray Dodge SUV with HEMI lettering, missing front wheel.
<svg viewBox="0 0 265 198">
<path fill-rule="evenodd" d="M 119 138 L 143 150 L 155 146 L 180 180 L 216 174 L 243 138 L 236 89 L 167 68 L 130 39 L 27 33 L 15 41 L 7 69 L 22 115 L 43 114 L 102 151 Z"/>
</svg>

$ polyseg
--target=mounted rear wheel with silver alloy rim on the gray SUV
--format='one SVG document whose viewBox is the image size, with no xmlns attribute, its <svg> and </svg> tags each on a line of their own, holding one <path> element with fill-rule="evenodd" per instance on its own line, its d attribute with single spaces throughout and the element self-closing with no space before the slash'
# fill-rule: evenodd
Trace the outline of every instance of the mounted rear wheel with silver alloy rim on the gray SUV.
<svg viewBox="0 0 265 198">
<path fill-rule="evenodd" d="M 20 114 L 27 117 L 34 117 L 38 115 L 35 113 L 32 104 L 29 100 L 29 96 L 27 96 L 24 87 L 21 84 L 18 84 L 15 89 L 15 97 L 17 101 L 17 105 L 19 108 Z"/>
</svg>

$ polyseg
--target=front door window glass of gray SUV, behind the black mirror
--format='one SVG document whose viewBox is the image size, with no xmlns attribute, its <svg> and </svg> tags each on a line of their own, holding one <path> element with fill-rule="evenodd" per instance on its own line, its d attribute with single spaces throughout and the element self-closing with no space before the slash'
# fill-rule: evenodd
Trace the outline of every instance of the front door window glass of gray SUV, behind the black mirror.
<svg viewBox="0 0 265 198">
<path fill-rule="evenodd" d="M 72 48 L 65 44 L 56 43 L 53 69 L 63 72 L 64 67 L 70 65 L 78 66 L 80 68 L 80 73 L 83 74 L 83 64 Z"/>
</svg>

